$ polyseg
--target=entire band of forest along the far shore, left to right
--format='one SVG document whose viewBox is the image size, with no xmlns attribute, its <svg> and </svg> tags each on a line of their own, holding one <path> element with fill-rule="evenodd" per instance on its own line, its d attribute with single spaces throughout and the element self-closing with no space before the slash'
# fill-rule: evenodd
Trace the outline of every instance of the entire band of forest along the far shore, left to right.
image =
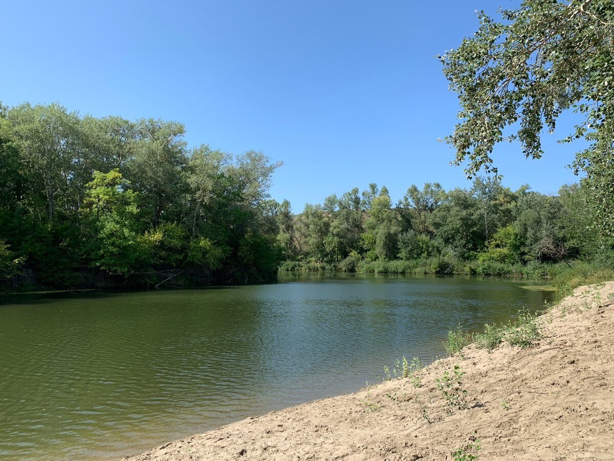
<svg viewBox="0 0 614 461">
<path fill-rule="evenodd" d="M 57 103 L 2 106 L 2 289 L 262 282 L 278 268 L 531 278 L 613 269 L 614 240 L 593 225 L 585 186 L 552 196 L 489 176 L 451 191 L 412 185 L 394 203 L 370 184 L 294 215 L 268 192 L 279 162 L 188 148 L 184 132 Z"/>
</svg>

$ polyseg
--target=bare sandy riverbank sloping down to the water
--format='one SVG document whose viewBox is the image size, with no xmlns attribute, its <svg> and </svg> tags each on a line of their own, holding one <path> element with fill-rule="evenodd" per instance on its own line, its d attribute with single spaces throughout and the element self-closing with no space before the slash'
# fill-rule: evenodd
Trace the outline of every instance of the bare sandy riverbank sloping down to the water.
<svg viewBox="0 0 614 461">
<path fill-rule="evenodd" d="M 472 344 L 419 379 L 241 420 L 125 460 L 441 460 L 457 450 L 480 460 L 612 459 L 613 308 L 614 282 L 577 288 L 540 317 L 545 336 L 529 349 Z M 455 366 L 465 373 L 467 409 L 447 406 L 437 387 L 446 371 L 455 381 Z"/>
</svg>

